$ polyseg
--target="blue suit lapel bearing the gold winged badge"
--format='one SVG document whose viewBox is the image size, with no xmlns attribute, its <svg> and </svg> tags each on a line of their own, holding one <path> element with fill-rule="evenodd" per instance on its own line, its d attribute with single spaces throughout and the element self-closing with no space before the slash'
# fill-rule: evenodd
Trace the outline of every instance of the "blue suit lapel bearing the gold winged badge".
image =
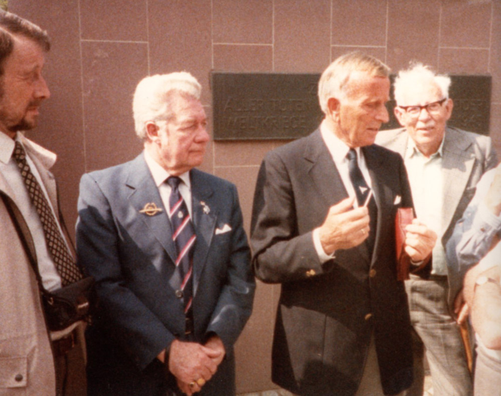
<svg viewBox="0 0 501 396">
<path fill-rule="evenodd" d="M 167 251 L 172 263 L 174 263 L 176 260 L 176 248 L 172 241 L 172 230 L 169 217 L 163 206 L 153 176 L 151 176 L 151 172 L 144 160 L 143 153 L 131 162 L 129 175 L 125 184 L 132 188 L 129 202 L 135 210 L 135 215 L 146 224 L 150 232 Z M 146 204 L 151 203 L 155 204 L 157 208 L 162 209 L 162 211 L 151 216 L 146 213 L 141 213 L 141 210 L 145 208 Z"/>
</svg>

